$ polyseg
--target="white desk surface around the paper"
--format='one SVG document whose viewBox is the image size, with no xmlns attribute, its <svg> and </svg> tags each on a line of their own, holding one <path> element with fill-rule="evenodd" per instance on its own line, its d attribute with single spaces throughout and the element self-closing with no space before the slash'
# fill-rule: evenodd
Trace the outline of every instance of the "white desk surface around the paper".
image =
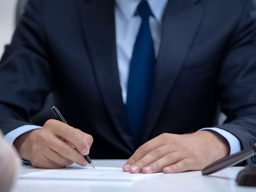
<svg viewBox="0 0 256 192">
<path fill-rule="evenodd" d="M 125 160 L 93 160 L 98 167 L 122 167 Z M 78 166 L 78 165 L 72 165 Z M 237 173 L 244 167 L 230 167 L 211 176 L 202 176 L 200 171 L 176 174 L 161 174 L 137 182 L 83 181 L 83 180 L 30 180 L 18 179 L 12 192 L 256 192 L 256 187 L 241 187 L 235 182 Z M 19 174 L 45 169 L 21 166 Z"/>
</svg>

